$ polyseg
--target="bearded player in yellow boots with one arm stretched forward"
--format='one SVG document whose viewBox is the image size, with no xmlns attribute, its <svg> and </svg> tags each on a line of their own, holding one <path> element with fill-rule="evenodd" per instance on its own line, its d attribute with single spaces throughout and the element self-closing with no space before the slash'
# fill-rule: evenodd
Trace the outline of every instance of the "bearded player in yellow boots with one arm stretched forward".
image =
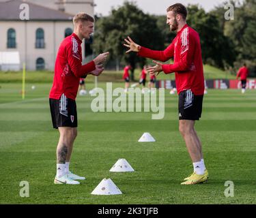
<svg viewBox="0 0 256 218">
<path fill-rule="evenodd" d="M 180 3 L 167 8 L 167 25 L 171 31 L 177 31 L 177 35 L 165 50 L 144 48 L 134 43 L 130 37 L 125 40 L 124 46 L 130 48 L 126 52 L 138 52 L 142 57 L 162 62 L 174 58 L 173 64 L 154 61 L 156 65 L 149 67 L 148 71 L 156 75 L 162 71 L 165 74 L 175 72 L 179 94 L 179 129 L 194 166 L 193 174 L 185 178 L 182 185 L 191 185 L 208 180 L 208 170 L 205 168 L 201 142 L 195 131 L 195 121 L 201 117 L 204 91 L 201 45 L 198 33 L 186 24 L 186 15 L 186 7 Z"/>
</svg>

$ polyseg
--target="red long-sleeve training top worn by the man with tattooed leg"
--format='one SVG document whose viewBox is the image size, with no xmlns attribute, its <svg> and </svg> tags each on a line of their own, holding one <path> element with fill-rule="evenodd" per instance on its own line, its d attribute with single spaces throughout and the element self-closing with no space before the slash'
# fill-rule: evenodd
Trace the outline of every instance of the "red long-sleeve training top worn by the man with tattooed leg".
<svg viewBox="0 0 256 218">
<path fill-rule="evenodd" d="M 70 99 L 76 99 L 79 80 L 96 69 L 94 61 L 82 65 L 82 41 L 72 33 L 59 46 L 55 61 L 53 87 L 49 97 L 59 99 L 64 93 Z"/>
</svg>

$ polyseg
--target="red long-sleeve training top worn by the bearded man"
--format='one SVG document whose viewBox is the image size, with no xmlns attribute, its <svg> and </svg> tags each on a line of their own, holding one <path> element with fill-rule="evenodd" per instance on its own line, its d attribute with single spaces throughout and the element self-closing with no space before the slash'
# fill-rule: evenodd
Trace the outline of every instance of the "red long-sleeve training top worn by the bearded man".
<svg viewBox="0 0 256 218">
<path fill-rule="evenodd" d="M 173 64 L 162 65 L 165 74 L 175 72 L 177 93 L 191 89 L 195 95 L 203 95 L 203 61 L 198 33 L 184 25 L 173 42 L 163 51 L 150 50 L 141 46 L 138 55 L 165 62 L 172 57 Z"/>
</svg>

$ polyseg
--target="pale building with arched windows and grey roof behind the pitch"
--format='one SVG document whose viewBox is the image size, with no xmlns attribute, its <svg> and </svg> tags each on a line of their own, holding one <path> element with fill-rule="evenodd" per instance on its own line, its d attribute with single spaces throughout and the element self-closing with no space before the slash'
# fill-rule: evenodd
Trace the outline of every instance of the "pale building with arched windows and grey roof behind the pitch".
<svg viewBox="0 0 256 218">
<path fill-rule="evenodd" d="M 20 20 L 23 3 L 29 20 Z M 94 0 L 0 0 L 0 52 L 18 51 L 20 68 L 26 63 L 28 70 L 53 70 L 59 44 L 72 33 L 78 12 L 94 16 Z M 85 57 L 85 43 L 82 51 Z"/>
</svg>

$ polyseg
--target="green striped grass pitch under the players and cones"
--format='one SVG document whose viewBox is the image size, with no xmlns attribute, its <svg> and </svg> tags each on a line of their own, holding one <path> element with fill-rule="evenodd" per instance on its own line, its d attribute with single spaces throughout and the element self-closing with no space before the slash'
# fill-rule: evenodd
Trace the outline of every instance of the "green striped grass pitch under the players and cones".
<svg viewBox="0 0 256 218">
<path fill-rule="evenodd" d="M 58 132 L 48 106 L 51 84 L 31 86 L 22 101 L 20 84 L 1 84 L 0 204 L 256 204 L 256 90 L 208 90 L 196 129 L 210 179 L 190 186 L 180 185 L 193 166 L 178 131 L 177 95 L 166 91 L 162 120 L 152 120 L 152 112 L 94 113 L 93 97 L 77 97 L 70 168 L 87 179 L 72 186 L 53 184 Z M 137 142 L 146 131 L 156 142 Z M 109 172 L 119 158 L 135 172 Z M 123 194 L 91 195 L 102 178 Z M 20 181 L 29 182 L 29 198 L 20 197 Z M 224 195 L 225 181 L 233 181 L 233 198 Z"/>
</svg>

